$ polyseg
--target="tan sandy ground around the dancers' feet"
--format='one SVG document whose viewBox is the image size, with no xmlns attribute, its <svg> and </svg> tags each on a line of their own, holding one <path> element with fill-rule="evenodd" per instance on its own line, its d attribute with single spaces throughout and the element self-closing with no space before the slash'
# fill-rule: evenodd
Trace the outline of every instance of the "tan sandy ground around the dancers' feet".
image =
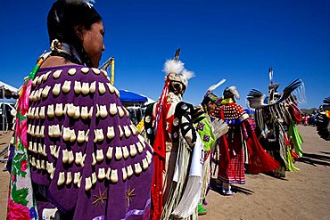
<svg viewBox="0 0 330 220">
<path fill-rule="evenodd" d="M 318 137 L 313 126 L 298 126 L 304 155 L 295 163 L 301 171 L 285 179 L 247 175 L 233 196 L 210 191 L 208 214 L 200 219 L 330 219 L 330 142 Z M 0 135 L 0 151 L 9 138 Z M 0 166 L 2 166 L 0 164 Z M 1 167 L 2 169 L 2 167 Z M 0 220 L 5 219 L 8 189 L 6 172 L 0 171 Z"/>
</svg>

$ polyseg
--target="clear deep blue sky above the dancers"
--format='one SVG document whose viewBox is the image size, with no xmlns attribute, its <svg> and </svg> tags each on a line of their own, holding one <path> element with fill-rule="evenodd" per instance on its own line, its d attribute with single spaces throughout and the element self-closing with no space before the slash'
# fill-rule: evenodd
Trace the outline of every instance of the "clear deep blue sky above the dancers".
<svg viewBox="0 0 330 220">
<path fill-rule="evenodd" d="M 36 59 L 48 50 L 46 15 L 51 0 L 4 1 L 0 7 L 0 80 L 21 86 Z M 328 0 L 98 0 L 106 29 L 103 61 L 115 57 L 115 86 L 156 100 L 163 63 L 181 48 L 180 60 L 195 77 L 184 100 L 198 104 L 207 88 L 225 77 L 238 102 L 256 88 L 266 93 L 268 67 L 280 91 L 300 77 L 307 104 L 330 95 Z M 102 62 L 103 62 L 102 61 Z"/>
</svg>

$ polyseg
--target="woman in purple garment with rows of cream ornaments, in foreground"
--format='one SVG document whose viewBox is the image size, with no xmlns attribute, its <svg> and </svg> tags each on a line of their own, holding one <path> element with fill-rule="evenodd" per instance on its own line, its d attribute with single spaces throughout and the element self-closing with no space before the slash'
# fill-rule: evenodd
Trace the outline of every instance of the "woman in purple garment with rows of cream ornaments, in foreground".
<svg viewBox="0 0 330 220">
<path fill-rule="evenodd" d="M 97 69 L 101 16 L 58 0 L 47 26 L 51 52 L 18 102 L 7 219 L 148 219 L 153 149 Z"/>
</svg>

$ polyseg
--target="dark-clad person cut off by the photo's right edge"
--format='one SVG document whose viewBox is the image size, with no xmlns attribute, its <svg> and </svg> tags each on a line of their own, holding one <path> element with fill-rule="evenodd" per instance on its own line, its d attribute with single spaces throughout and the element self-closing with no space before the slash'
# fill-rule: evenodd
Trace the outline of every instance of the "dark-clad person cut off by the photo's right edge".
<svg viewBox="0 0 330 220">
<path fill-rule="evenodd" d="M 323 101 L 317 114 L 318 135 L 330 141 L 330 96 Z"/>
</svg>

